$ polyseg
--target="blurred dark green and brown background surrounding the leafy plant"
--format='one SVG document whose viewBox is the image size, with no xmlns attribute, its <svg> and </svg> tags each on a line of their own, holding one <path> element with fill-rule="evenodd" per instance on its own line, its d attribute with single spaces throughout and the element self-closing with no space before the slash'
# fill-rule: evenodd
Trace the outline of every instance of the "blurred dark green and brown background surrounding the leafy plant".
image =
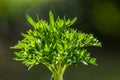
<svg viewBox="0 0 120 80">
<path fill-rule="evenodd" d="M 120 80 L 120 1 L 119 0 L 0 0 L 0 80 L 49 80 L 51 73 L 44 65 L 30 71 L 14 61 L 9 47 L 22 39 L 21 32 L 31 26 L 26 14 L 48 20 L 55 16 L 78 17 L 73 28 L 93 33 L 102 48 L 88 48 L 99 66 L 79 64 L 68 68 L 64 80 Z"/>
</svg>

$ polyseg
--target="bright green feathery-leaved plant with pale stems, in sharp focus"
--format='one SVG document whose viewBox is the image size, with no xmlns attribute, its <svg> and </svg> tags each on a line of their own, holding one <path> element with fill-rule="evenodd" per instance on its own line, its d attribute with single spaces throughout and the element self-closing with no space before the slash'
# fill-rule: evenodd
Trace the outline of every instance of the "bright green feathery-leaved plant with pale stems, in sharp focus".
<svg viewBox="0 0 120 80">
<path fill-rule="evenodd" d="M 54 80 L 63 80 L 63 74 L 70 65 L 79 62 L 97 65 L 96 59 L 90 57 L 85 48 L 101 46 L 101 43 L 93 34 L 70 28 L 77 18 L 57 17 L 55 20 L 52 11 L 49 12 L 49 22 L 42 19 L 35 22 L 30 16 L 26 17 L 34 29 L 22 33 L 23 40 L 12 47 L 20 50 L 15 52 L 15 60 L 22 61 L 29 69 L 39 63 L 44 64 L 52 72 Z"/>
</svg>

